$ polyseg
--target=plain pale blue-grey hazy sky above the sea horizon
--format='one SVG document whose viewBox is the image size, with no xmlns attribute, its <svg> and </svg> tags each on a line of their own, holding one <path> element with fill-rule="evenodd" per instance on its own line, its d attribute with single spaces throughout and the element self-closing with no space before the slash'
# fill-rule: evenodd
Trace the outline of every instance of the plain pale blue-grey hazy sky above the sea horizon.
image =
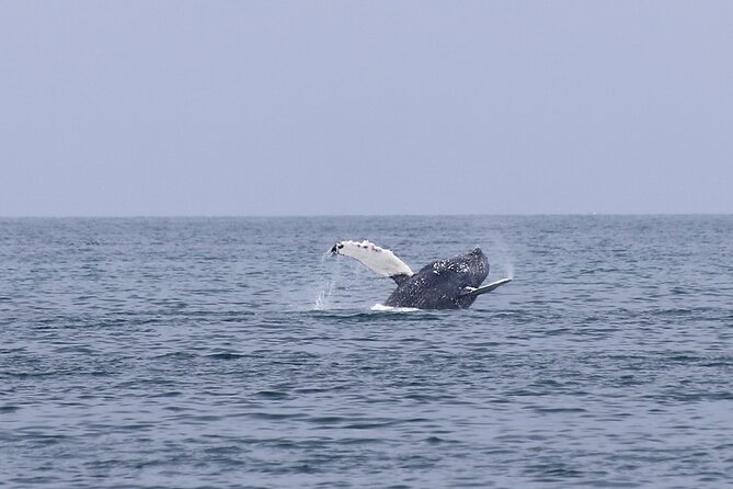
<svg viewBox="0 0 733 489">
<path fill-rule="evenodd" d="M 733 2 L 0 0 L 0 216 L 733 213 Z"/>
</svg>

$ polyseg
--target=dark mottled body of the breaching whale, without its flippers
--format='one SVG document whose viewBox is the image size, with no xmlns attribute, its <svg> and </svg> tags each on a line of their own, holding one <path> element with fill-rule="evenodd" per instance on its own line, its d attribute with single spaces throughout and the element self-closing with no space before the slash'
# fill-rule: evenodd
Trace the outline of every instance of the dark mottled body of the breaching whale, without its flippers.
<svg viewBox="0 0 733 489">
<path fill-rule="evenodd" d="M 489 259 L 480 248 L 423 266 L 400 280 L 385 302 L 390 307 L 417 309 L 466 309 L 476 296 L 465 296 L 465 287 L 478 288 L 489 275 Z M 404 275 L 403 275 L 404 276 Z"/>
</svg>

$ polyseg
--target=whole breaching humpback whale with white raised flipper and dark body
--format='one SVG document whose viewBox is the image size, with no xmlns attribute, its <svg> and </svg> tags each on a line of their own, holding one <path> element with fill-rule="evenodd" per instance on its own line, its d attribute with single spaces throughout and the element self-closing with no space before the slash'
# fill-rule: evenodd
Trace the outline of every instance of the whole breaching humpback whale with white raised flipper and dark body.
<svg viewBox="0 0 733 489">
<path fill-rule="evenodd" d="M 386 248 L 369 241 L 339 241 L 331 253 L 350 257 L 381 276 L 394 281 L 397 288 L 385 306 L 417 309 L 467 309 L 481 294 L 504 285 L 502 278 L 481 286 L 489 275 L 489 259 L 480 248 L 430 263 L 414 273 Z"/>
</svg>

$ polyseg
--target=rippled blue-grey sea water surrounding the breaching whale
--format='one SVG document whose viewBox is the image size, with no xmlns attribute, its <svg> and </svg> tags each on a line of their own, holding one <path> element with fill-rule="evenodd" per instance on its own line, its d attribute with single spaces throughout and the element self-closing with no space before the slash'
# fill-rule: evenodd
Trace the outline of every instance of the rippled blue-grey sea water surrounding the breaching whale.
<svg viewBox="0 0 733 489">
<path fill-rule="evenodd" d="M 731 216 L 0 220 L 0 486 L 732 484 Z"/>
</svg>

